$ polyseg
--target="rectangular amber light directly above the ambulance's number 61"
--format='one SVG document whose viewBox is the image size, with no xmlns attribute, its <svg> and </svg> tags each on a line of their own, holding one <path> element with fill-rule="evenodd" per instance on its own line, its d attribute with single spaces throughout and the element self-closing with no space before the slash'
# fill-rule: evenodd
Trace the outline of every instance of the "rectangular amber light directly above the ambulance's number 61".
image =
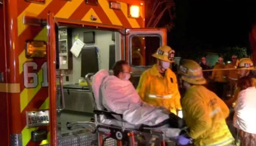
<svg viewBox="0 0 256 146">
<path fill-rule="evenodd" d="M 45 41 L 27 41 L 26 57 L 27 58 L 46 57 L 46 42 Z"/>
</svg>

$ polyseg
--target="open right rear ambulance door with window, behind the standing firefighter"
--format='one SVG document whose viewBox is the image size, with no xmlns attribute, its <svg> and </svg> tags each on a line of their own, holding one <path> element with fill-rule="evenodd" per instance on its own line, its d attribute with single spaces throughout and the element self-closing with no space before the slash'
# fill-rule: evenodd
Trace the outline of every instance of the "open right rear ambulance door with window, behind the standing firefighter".
<svg viewBox="0 0 256 146">
<path fill-rule="evenodd" d="M 165 28 L 131 28 L 125 30 L 124 58 L 131 66 L 131 82 L 137 87 L 142 72 L 156 63 L 152 54 L 167 44 Z"/>
</svg>

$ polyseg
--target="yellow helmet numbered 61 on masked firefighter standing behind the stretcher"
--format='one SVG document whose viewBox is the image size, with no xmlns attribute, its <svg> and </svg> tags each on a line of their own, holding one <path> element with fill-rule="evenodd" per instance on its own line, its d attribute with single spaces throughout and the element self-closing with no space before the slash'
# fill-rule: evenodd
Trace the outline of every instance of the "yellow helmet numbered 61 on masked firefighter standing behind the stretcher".
<svg viewBox="0 0 256 146">
<path fill-rule="evenodd" d="M 169 46 L 161 46 L 152 56 L 166 62 L 174 62 L 175 51 Z"/>
</svg>

